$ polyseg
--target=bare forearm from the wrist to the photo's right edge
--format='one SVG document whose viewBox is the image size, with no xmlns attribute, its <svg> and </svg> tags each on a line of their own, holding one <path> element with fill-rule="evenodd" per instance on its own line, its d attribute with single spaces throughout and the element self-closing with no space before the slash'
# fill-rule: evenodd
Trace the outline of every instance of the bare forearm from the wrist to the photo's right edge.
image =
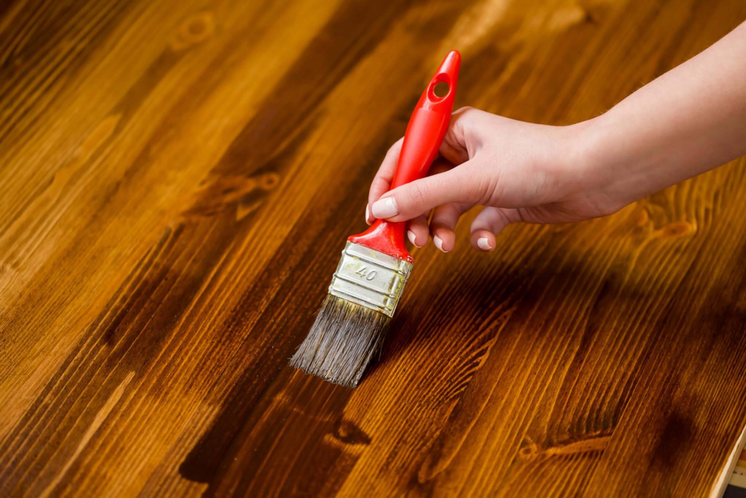
<svg viewBox="0 0 746 498">
<path fill-rule="evenodd" d="M 627 203 L 746 154 L 746 23 L 586 127 L 588 179 Z"/>
</svg>

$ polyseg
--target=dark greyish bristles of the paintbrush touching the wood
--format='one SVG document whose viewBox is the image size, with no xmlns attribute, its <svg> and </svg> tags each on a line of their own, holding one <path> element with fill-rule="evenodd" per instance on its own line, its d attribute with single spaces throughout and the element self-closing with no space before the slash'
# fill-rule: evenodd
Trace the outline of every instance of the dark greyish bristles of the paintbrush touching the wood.
<svg viewBox="0 0 746 498">
<path fill-rule="evenodd" d="M 334 384 L 356 387 L 380 351 L 390 321 L 383 313 L 327 294 L 290 366 Z"/>
</svg>

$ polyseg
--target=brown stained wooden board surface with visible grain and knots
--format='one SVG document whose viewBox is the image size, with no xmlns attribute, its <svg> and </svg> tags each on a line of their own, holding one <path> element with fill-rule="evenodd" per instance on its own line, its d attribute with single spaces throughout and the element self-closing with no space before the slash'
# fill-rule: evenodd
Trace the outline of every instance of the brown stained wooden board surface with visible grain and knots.
<svg viewBox="0 0 746 498">
<path fill-rule="evenodd" d="M 0 495 L 707 496 L 746 425 L 746 161 L 414 253 L 357 390 L 286 366 L 369 181 L 458 105 L 603 112 L 742 0 L 0 4 Z"/>
</svg>

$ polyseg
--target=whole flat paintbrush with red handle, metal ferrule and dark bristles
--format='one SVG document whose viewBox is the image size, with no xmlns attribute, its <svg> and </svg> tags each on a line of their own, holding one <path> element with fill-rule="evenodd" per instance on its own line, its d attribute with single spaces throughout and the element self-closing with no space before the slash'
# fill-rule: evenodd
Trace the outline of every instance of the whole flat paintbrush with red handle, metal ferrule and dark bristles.
<svg viewBox="0 0 746 498">
<path fill-rule="evenodd" d="M 450 52 L 417 102 L 392 189 L 427 175 L 451 120 L 460 62 L 459 52 Z M 436 95 L 438 84 L 445 84 L 445 94 Z M 348 238 L 316 321 L 290 360 L 292 367 L 335 384 L 357 386 L 380 352 L 412 271 L 404 227 L 405 222 L 376 220 L 362 234 Z"/>
</svg>

